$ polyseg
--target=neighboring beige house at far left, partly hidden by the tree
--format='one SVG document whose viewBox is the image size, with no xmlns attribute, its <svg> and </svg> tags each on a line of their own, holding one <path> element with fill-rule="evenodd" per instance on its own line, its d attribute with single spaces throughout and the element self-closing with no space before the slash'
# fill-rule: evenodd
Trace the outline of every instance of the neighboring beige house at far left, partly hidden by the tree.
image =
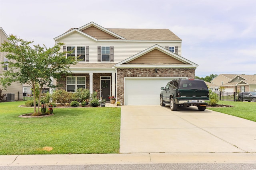
<svg viewBox="0 0 256 170">
<path fill-rule="evenodd" d="M 8 35 L 6 35 L 6 33 L 4 32 L 4 29 L 2 29 L 2 27 L 0 27 L 0 45 L 2 43 L 4 43 L 4 41 L 9 41 L 8 40 Z M 9 41 L 10 42 L 10 41 Z M 10 42 L 11 43 L 11 42 Z M 2 45 L 1 45 L 2 46 Z M 8 53 L 6 52 L 0 52 L 0 61 L 1 62 L 8 62 L 8 59 L 5 58 L 5 56 Z M 3 74 L 4 71 L 8 70 L 8 63 L 5 63 L 4 65 L 2 65 L 0 67 L 0 74 Z M 3 89 L 3 87 L 0 84 L 0 88 Z M 9 100 L 18 100 L 18 92 L 22 92 L 22 84 L 20 84 L 19 82 L 13 82 L 11 84 L 11 86 L 7 86 L 6 90 L 2 91 L 2 94 L 12 94 L 10 96 L 12 96 L 11 98 L 9 98 Z M 13 95 L 14 94 L 14 95 Z"/>
</svg>

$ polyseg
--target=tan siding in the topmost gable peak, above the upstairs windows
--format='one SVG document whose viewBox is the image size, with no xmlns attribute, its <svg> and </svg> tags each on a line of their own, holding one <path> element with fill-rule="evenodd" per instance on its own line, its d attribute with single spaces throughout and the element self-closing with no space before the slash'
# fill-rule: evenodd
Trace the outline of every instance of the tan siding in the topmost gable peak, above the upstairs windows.
<svg viewBox="0 0 256 170">
<path fill-rule="evenodd" d="M 84 32 L 96 39 L 117 39 L 116 37 L 104 32 L 104 31 L 101 31 L 100 29 L 98 29 L 94 26 L 84 29 L 84 30 L 82 30 L 82 32 Z"/>
</svg>

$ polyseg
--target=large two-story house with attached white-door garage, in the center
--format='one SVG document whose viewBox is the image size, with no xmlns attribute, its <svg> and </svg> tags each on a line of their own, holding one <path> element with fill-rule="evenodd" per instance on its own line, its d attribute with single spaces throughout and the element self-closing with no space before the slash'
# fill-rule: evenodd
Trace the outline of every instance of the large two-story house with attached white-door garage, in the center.
<svg viewBox="0 0 256 170">
<path fill-rule="evenodd" d="M 57 84 L 68 92 L 98 91 L 123 105 L 157 105 L 174 78 L 195 78 L 197 64 L 181 57 L 182 40 L 169 29 L 106 29 L 94 22 L 54 38 L 79 59 Z"/>
</svg>

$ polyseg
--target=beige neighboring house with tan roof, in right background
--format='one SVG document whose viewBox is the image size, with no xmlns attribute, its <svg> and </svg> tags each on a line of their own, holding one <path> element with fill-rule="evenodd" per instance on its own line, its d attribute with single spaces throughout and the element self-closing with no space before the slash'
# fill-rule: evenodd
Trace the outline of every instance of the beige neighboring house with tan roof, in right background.
<svg viewBox="0 0 256 170">
<path fill-rule="evenodd" d="M 225 92 L 256 92 L 256 75 L 236 75 L 221 87 Z"/>
</svg>

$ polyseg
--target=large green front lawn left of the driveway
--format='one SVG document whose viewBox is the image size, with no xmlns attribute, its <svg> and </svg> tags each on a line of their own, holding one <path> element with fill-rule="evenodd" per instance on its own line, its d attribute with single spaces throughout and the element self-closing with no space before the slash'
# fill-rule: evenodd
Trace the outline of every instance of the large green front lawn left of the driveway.
<svg viewBox="0 0 256 170">
<path fill-rule="evenodd" d="M 20 118 L 33 108 L 0 103 L 0 155 L 119 153 L 120 108 L 54 108 L 54 115 Z"/>
</svg>

